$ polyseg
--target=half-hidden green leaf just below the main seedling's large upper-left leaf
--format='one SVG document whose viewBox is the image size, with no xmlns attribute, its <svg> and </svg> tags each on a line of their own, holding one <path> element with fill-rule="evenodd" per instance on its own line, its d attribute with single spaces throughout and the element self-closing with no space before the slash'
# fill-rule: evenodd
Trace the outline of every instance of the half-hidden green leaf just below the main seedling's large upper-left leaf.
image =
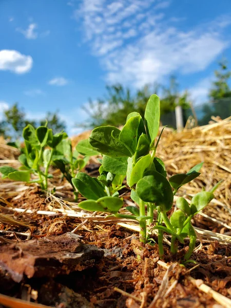
<svg viewBox="0 0 231 308">
<path fill-rule="evenodd" d="M 127 173 L 127 157 L 110 157 L 104 155 L 103 168 L 115 175 L 126 175 Z"/>
</svg>

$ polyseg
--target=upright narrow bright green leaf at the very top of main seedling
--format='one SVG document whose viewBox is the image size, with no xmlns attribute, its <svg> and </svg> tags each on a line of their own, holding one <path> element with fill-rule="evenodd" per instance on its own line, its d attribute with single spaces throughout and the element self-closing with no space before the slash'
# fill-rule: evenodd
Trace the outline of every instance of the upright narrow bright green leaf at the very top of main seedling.
<svg viewBox="0 0 231 308">
<path fill-rule="evenodd" d="M 156 94 L 151 95 L 147 102 L 144 119 L 146 131 L 152 146 L 160 126 L 160 99 Z"/>
</svg>

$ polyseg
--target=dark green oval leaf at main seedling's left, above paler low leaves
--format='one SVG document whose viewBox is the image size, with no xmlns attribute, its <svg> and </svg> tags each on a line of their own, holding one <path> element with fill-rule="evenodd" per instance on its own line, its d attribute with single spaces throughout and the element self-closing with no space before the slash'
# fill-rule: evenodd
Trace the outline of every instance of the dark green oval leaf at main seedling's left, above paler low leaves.
<svg viewBox="0 0 231 308">
<path fill-rule="evenodd" d="M 72 179 L 72 183 L 85 198 L 98 200 L 99 198 L 106 196 L 106 192 L 97 180 L 98 179 L 91 178 L 87 174 L 80 172 Z"/>
</svg>

